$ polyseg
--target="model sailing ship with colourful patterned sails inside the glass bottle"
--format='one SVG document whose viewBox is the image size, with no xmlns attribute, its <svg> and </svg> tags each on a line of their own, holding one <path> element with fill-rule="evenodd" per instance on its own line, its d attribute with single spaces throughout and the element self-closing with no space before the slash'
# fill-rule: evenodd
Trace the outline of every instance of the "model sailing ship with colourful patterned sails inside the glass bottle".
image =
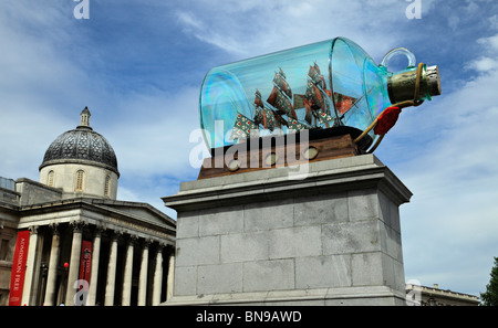
<svg viewBox="0 0 498 328">
<path fill-rule="evenodd" d="M 286 73 L 279 67 L 274 73 L 273 88 L 267 100 L 259 89 L 255 96 L 255 116 L 249 118 L 240 112 L 236 118 L 231 139 L 239 141 L 259 137 L 261 130 L 274 134 L 287 127 L 288 133 L 302 129 L 321 129 L 338 127 L 341 119 L 353 108 L 359 99 L 334 93 L 335 107 L 331 104 L 332 92 L 326 88 L 324 76 L 317 63 L 310 65 L 304 95 L 292 94 Z M 304 110 L 304 115 L 298 113 Z"/>
</svg>

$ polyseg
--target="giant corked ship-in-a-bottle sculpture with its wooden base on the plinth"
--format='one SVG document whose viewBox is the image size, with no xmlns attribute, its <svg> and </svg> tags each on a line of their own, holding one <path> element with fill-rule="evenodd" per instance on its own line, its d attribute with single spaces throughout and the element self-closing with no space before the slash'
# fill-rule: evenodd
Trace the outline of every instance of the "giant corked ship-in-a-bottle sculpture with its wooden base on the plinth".
<svg viewBox="0 0 498 328">
<path fill-rule="evenodd" d="M 388 71 L 395 55 L 408 59 L 406 70 Z M 404 47 L 390 51 L 377 65 L 345 38 L 215 67 L 204 80 L 199 105 L 204 139 L 214 157 L 205 160 L 199 179 L 258 169 L 241 162 L 240 154 L 235 161 L 227 159 L 230 146 L 250 145 L 248 140 L 255 139 L 261 146 L 261 140 L 286 140 L 300 131 L 309 133 L 309 145 L 301 150 L 308 151 L 310 145 L 314 150 L 305 160 L 333 158 L 330 149 L 343 147 L 338 145 L 344 145 L 344 138 L 352 152 L 339 150 L 335 157 L 372 152 L 404 107 L 437 95 L 437 66 L 416 64 L 415 55 Z M 269 154 L 274 155 L 276 142 L 271 145 Z M 264 167 L 261 150 L 260 155 Z M 273 156 L 270 167 L 276 160 Z"/>
</svg>

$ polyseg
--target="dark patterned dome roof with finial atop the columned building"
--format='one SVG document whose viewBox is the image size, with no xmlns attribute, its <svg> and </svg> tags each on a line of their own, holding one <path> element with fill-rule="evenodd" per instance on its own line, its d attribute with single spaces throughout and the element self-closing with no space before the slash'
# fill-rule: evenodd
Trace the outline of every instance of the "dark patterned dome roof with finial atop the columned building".
<svg viewBox="0 0 498 328">
<path fill-rule="evenodd" d="M 81 113 L 81 124 L 60 135 L 46 149 L 40 170 L 56 163 L 86 163 L 108 169 L 120 176 L 117 159 L 108 141 L 89 125 L 90 110 Z"/>
</svg>

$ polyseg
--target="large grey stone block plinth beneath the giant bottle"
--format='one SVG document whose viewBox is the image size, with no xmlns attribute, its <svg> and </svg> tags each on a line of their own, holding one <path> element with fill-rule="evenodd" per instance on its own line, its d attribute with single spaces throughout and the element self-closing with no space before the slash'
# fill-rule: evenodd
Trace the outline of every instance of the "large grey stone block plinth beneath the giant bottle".
<svg viewBox="0 0 498 328">
<path fill-rule="evenodd" d="M 403 305 L 411 197 L 374 155 L 184 182 L 166 305 Z"/>
</svg>

